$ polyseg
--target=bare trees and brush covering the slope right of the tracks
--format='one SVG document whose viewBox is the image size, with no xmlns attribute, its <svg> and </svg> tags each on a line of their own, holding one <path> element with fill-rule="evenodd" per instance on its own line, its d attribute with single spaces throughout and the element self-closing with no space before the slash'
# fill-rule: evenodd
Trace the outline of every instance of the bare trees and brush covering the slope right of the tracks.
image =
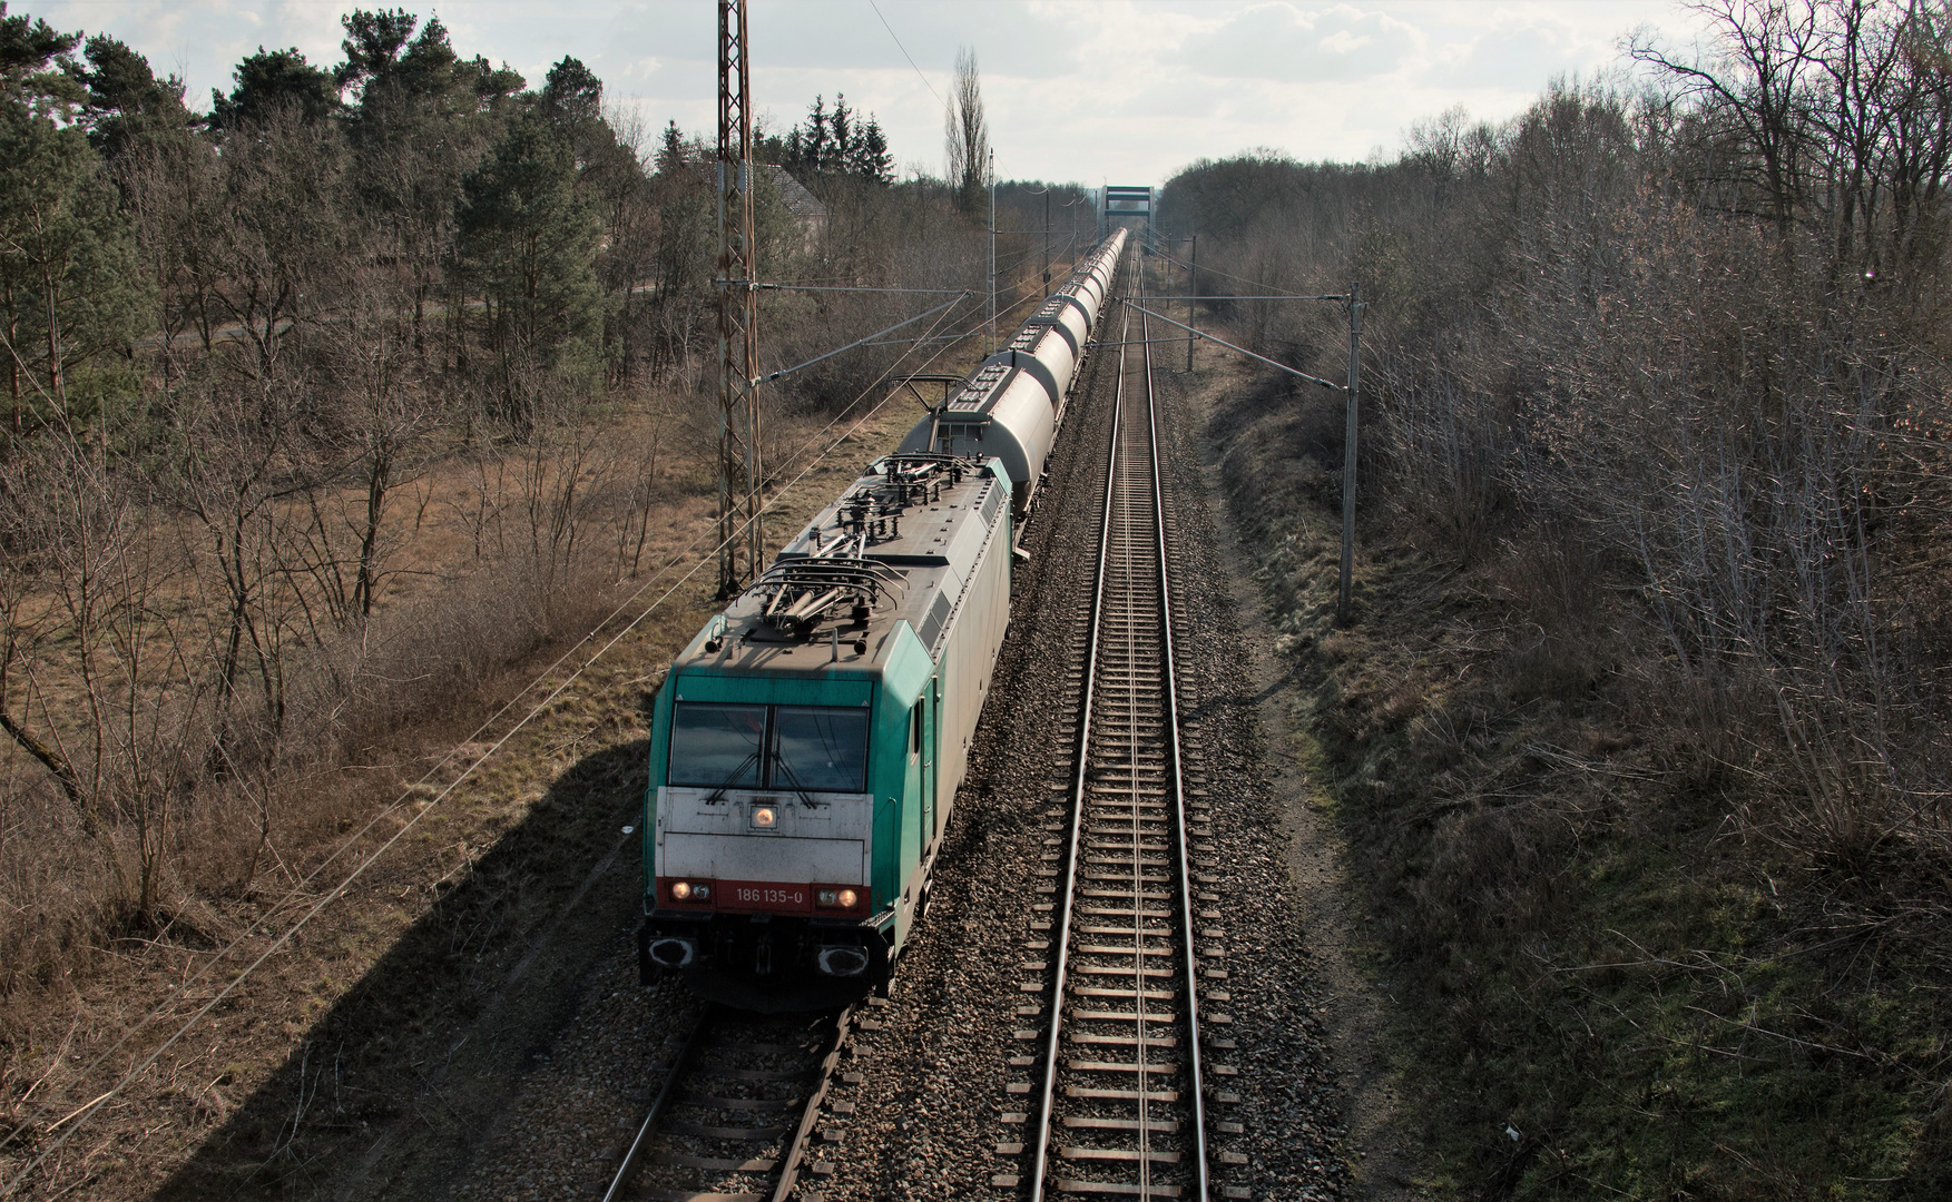
<svg viewBox="0 0 1952 1202">
<path fill-rule="evenodd" d="M 1202 293 L 1361 285 L 1361 541 L 1478 601 L 1480 654 L 1446 660 L 1474 675 L 1413 722 L 1320 716 L 1368 740 L 1339 743 L 1368 757 L 1347 816 L 1400 872 L 1370 898 L 1415 1040 L 1478 1065 L 1423 1112 L 1525 1136 L 1458 1136 L 1468 1181 L 1932 1196 L 1952 1136 L 1901 1032 L 1942 1026 L 1952 966 L 1952 10 L 1698 8 L 1698 57 L 1636 41 L 1511 121 L 1423 121 L 1390 162 L 1195 164 L 1161 220 L 1199 234 Z M 1345 314 L 1320 308 L 1220 306 L 1337 379 Z M 1286 470 L 1335 503 L 1341 400 L 1316 392 L 1286 396 Z M 1581 730 L 1618 730 L 1630 767 Z M 1671 862 L 1671 892 L 1634 876 Z M 1581 976 L 1603 962 L 1624 968 Z M 1741 1054 L 1626 1050 L 1671 1030 Z"/>
</svg>

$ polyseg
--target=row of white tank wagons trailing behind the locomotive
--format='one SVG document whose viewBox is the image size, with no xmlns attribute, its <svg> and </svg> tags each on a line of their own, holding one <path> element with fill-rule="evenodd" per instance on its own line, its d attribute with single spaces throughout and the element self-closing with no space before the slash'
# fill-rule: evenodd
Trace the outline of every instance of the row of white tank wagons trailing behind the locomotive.
<svg viewBox="0 0 1952 1202">
<path fill-rule="evenodd" d="M 939 410 L 915 423 L 898 455 L 999 459 L 1019 513 L 1029 507 L 1044 459 L 1064 421 L 1064 404 L 1085 343 L 1111 293 L 1124 230 L 1099 244 L 1044 300 L 1015 338 Z"/>
</svg>

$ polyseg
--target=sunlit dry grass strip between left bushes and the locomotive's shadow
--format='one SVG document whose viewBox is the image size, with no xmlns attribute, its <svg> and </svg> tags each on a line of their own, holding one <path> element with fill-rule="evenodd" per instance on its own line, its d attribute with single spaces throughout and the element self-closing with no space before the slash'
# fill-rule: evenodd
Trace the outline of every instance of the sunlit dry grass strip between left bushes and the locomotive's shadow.
<svg viewBox="0 0 1952 1202">
<path fill-rule="evenodd" d="M 886 406 L 783 496 L 769 525 L 773 544 L 830 500 L 841 480 L 851 480 L 865 459 L 906 433 L 912 418 L 900 402 Z M 781 427 L 781 437 L 789 441 L 810 433 L 806 423 Z M 683 472 L 693 462 L 679 457 L 671 466 L 679 488 L 650 517 L 642 552 L 646 570 L 673 556 L 683 562 L 685 548 L 711 529 L 709 500 L 681 488 Z M 478 478 L 478 461 L 455 461 L 424 478 L 429 501 L 416 505 L 420 525 L 408 544 L 422 558 L 402 562 L 426 570 L 398 576 L 386 609 L 400 634 L 388 638 L 383 652 L 369 650 L 361 658 L 367 679 L 385 687 L 367 695 L 369 708 L 342 714 L 342 757 L 320 757 L 306 771 L 275 782 L 275 837 L 256 853 L 256 870 L 248 864 L 258 847 L 260 800 L 246 782 L 238 782 L 199 798 L 174 825 L 170 907 L 162 923 L 142 931 L 115 929 L 115 915 L 102 905 L 111 886 L 100 874 L 76 872 L 72 857 L 21 853 L 74 839 L 72 823 L 61 818 L 64 810 L 20 798 L 10 802 L 6 892 L 0 896 L 33 900 L 33 907 L 20 902 L 0 905 L 0 921 L 14 923 L 8 927 L 14 946 L 35 948 L 45 968 L 39 980 L 16 976 L 16 987 L 0 997 L 0 1097 L 8 1099 L 8 1126 L 27 1124 L 23 1142 L 0 1151 L 0 1173 L 18 1171 L 23 1163 L 18 1157 L 45 1147 L 51 1126 L 62 1114 L 111 1085 L 133 1056 L 154 1048 L 162 1034 L 213 995 L 219 982 L 264 950 L 264 931 L 285 929 L 324 898 L 328 882 L 338 882 L 351 862 L 414 820 L 412 833 L 340 903 L 324 909 L 301 939 L 267 960 L 234 999 L 139 1077 L 107 1112 L 94 1116 L 88 1134 L 37 1177 L 37 1188 L 49 1194 L 59 1192 L 61 1182 L 92 1175 L 92 1196 L 146 1196 L 301 1046 L 310 1024 L 379 962 L 402 931 L 467 880 L 504 831 L 523 823 L 550 781 L 605 747 L 642 738 L 640 708 L 656 687 L 662 663 L 689 640 L 711 607 L 711 572 L 681 585 L 611 656 L 547 704 L 439 806 L 429 808 L 437 790 L 545 697 L 566 669 L 541 679 L 533 673 L 644 580 L 617 583 L 611 554 L 595 554 L 578 572 L 556 576 L 556 595 L 545 595 L 537 580 L 517 578 L 500 566 L 465 570 L 472 560 L 472 533 L 457 515 L 463 507 L 449 505 L 443 515 L 435 501 L 470 496 Z M 615 542 L 603 550 L 613 552 Z M 654 585 L 642 601 L 673 580 Z M 535 613 L 545 613 L 547 622 L 529 621 Z M 511 621 L 509 615 L 521 619 Z M 588 650 L 572 656 L 570 665 Z M 455 745 L 506 701 L 513 701 L 508 716 L 492 722 L 474 741 Z M 455 751 L 447 767 L 433 771 L 427 786 L 406 790 L 404 806 L 390 808 L 402 788 L 433 769 L 447 751 Z M 27 781 L 27 769 L 37 767 L 10 761 L 8 771 L 16 781 Z M 16 814 L 35 814 L 41 825 L 16 825 Z M 357 825 L 375 816 L 377 825 L 347 845 Z M 609 829 L 613 837 L 615 829 Z M 344 855 L 312 884 L 293 888 L 338 849 Z M 271 909 L 273 902 L 283 902 L 283 907 Z M 467 933 L 457 937 L 470 939 Z M 230 941 L 238 941 L 232 954 L 213 962 L 211 952 Z M 178 995 L 185 980 L 207 968 L 203 983 Z M 94 1063 L 158 1003 L 164 1003 L 158 1022 L 117 1056 Z"/>
</svg>

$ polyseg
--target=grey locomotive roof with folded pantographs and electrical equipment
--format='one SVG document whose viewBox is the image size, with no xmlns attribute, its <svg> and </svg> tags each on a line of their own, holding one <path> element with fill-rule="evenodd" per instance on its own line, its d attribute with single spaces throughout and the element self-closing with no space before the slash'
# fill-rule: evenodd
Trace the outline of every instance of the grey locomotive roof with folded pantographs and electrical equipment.
<svg viewBox="0 0 1952 1202">
<path fill-rule="evenodd" d="M 671 669 L 876 675 L 902 621 L 931 658 L 939 656 L 990 531 L 1007 511 L 1009 478 L 997 461 L 878 459 L 787 542 L 765 576 L 724 609 L 722 624 L 712 619 Z M 820 605 L 830 589 L 837 599 Z M 781 621 L 794 599 L 814 607 L 810 621 Z M 853 601 L 865 603 L 865 622 Z M 853 650 L 857 642 L 867 644 L 865 654 Z"/>
</svg>

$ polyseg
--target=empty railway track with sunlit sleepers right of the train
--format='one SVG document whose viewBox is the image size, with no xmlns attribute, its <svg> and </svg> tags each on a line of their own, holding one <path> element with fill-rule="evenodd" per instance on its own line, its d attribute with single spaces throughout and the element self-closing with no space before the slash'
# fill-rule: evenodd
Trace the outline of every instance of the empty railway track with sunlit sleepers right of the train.
<svg viewBox="0 0 1952 1202">
<path fill-rule="evenodd" d="M 1134 279 L 1142 273 L 1134 267 Z M 1144 316 L 1132 338 L 1132 312 L 1120 330 L 1113 435 L 1099 566 L 1081 669 L 1074 775 L 1060 843 L 1050 919 L 1033 919 L 1025 964 L 1048 974 L 1037 989 L 1048 1005 L 1019 1005 L 1044 1017 L 1042 1030 L 1017 1038 L 1040 1042 L 1038 1056 L 1013 1063 L 1035 1069 L 1031 1108 L 1005 1116 L 1025 1124 L 1021 1143 L 1003 1143 L 1023 1173 L 999 1173 L 992 1184 L 1033 1200 L 1052 1194 L 1134 1198 L 1245 1198 L 1238 1186 L 1214 1186 L 1208 1171 L 1208 1067 L 1202 985 L 1224 970 L 1202 970 L 1199 911 L 1189 845 L 1210 814 L 1187 804 L 1179 743 L 1173 597 L 1167 576 L 1165 494 L 1159 476 L 1159 414 L 1152 390 L 1152 347 Z M 1048 829 L 1048 827 L 1046 827 Z M 1218 902 L 1214 894 L 1199 900 Z M 1035 939 L 1048 931 L 1048 939 Z M 1226 1001 L 1224 991 L 1208 993 Z M 1226 1017 L 1218 1017 L 1226 1022 Z M 1218 1040 L 1232 1048 L 1232 1040 Z M 1216 1101 L 1232 1101 L 1216 1093 Z M 1224 1122 L 1238 1132 L 1240 1124 Z M 1228 1155 L 1226 1163 L 1240 1157 Z"/>
</svg>

